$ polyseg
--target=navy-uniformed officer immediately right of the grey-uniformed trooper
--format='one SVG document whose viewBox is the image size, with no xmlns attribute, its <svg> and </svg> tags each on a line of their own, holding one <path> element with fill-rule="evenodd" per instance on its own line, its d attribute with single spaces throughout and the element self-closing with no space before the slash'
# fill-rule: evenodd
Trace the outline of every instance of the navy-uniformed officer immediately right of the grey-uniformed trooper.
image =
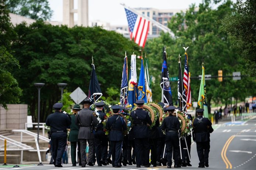
<svg viewBox="0 0 256 170">
<path fill-rule="evenodd" d="M 107 147 L 108 147 L 108 139 L 107 135 L 104 132 L 103 124 L 104 118 L 106 117 L 106 114 L 102 112 L 104 103 L 98 102 L 95 103 L 96 109 L 99 113 L 99 118 L 101 119 L 101 122 L 95 127 L 95 135 L 94 135 L 94 147 L 95 147 L 95 153 L 96 153 L 96 160 L 98 166 L 107 165 L 105 162 L 107 158 Z"/>
</svg>

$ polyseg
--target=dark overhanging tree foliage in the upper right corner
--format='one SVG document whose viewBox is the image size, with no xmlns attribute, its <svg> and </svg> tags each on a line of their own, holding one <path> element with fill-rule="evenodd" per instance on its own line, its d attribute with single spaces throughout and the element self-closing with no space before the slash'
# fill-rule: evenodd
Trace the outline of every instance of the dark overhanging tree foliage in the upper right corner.
<svg viewBox="0 0 256 170">
<path fill-rule="evenodd" d="M 221 19 L 220 31 L 228 34 L 231 48 L 246 61 L 250 75 L 256 73 L 256 2 L 237 0 L 232 13 Z"/>
</svg>

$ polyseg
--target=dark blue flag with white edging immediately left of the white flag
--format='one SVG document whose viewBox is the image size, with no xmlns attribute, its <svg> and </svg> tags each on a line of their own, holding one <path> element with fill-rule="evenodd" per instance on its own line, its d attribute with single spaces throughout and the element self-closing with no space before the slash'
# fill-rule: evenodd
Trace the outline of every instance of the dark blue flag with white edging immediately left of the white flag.
<svg viewBox="0 0 256 170">
<path fill-rule="evenodd" d="M 122 71 L 122 81 L 121 81 L 121 93 L 120 93 L 120 103 L 127 104 L 127 90 L 128 90 L 128 66 L 127 66 L 127 55 L 125 52 L 124 66 Z"/>
</svg>

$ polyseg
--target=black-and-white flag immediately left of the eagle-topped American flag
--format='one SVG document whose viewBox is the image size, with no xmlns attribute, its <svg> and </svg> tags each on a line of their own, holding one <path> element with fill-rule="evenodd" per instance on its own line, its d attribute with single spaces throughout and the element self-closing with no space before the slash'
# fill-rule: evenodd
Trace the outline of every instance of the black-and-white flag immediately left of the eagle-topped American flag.
<svg viewBox="0 0 256 170">
<path fill-rule="evenodd" d="M 181 62 L 179 62 L 178 103 L 179 103 L 179 107 L 181 107 L 183 111 L 186 111 L 186 94 L 185 94 L 185 88 L 182 80 L 183 79 L 182 79 L 182 71 L 181 71 Z"/>
</svg>

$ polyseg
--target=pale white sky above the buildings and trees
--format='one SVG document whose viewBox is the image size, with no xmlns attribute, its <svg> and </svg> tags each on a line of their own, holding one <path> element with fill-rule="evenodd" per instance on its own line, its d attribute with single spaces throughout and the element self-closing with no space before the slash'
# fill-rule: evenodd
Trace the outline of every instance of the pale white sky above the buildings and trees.
<svg viewBox="0 0 256 170">
<path fill-rule="evenodd" d="M 197 6 L 202 0 L 89 0 L 89 21 L 100 20 L 109 22 L 110 25 L 127 25 L 124 3 L 128 7 L 144 7 L 157 9 L 186 9 L 195 3 Z M 62 21 L 63 0 L 49 0 L 53 10 L 51 21 Z M 77 0 L 74 0 L 74 8 L 77 8 Z M 75 21 L 77 14 L 74 15 Z"/>
</svg>

